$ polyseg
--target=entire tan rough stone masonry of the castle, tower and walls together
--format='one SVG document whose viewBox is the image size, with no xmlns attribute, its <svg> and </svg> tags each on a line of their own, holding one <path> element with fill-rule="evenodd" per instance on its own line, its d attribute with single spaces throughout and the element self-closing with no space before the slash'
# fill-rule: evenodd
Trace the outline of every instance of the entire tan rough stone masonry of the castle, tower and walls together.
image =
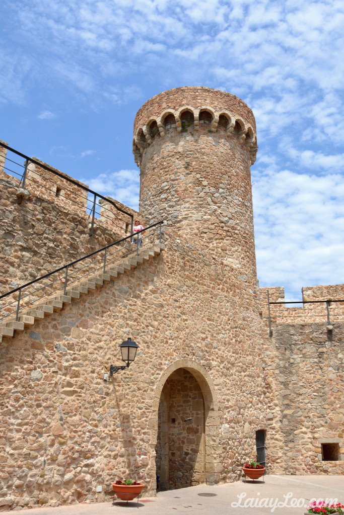
<svg viewBox="0 0 344 515">
<path fill-rule="evenodd" d="M 157 472 L 166 489 L 234 481 L 259 430 L 270 473 L 344 472 L 343 286 L 303 291 L 331 303 L 332 329 L 312 304 L 277 305 L 270 336 L 255 264 L 255 130 L 242 100 L 209 88 L 170 90 L 139 110 L 135 215 L 165 221 L 166 250 L 2 338 L 0 510 L 103 501 L 125 477 L 152 494 Z M 46 193 L 38 168 L 21 203 L 0 170 L 2 293 L 126 234 L 125 220 L 101 213 L 89 236 L 86 213 Z M 283 288 L 269 291 L 283 301 Z M 128 336 L 135 362 L 104 381 Z"/>
</svg>

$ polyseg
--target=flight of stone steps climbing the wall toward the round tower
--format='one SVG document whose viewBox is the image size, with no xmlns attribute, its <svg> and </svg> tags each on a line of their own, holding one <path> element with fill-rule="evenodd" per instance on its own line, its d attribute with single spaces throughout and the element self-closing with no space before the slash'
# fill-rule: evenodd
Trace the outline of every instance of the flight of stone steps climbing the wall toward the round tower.
<svg viewBox="0 0 344 515">
<path fill-rule="evenodd" d="M 94 275 L 90 274 L 87 280 L 71 285 L 67 288 L 65 295 L 57 293 L 51 297 L 46 297 L 41 302 L 40 299 L 37 299 L 37 303 L 26 310 L 23 307 L 24 311 L 20 312 L 18 320 L 12 317 L 6 322 L 0 323 L 0 343 L 4 337 L 13 337 L 15 331 L 24 331 L 26 327 L 34 325 L 37 319 L 51 315 L 54 311 L 61 311 L 63 304 L 70 304 L 74 302 L 74 299 L 78 299 L 80 295 L 87 295 L 89 290 L 94 290 L 97 286 L 103 286 L 104 282 L 114 281 L 121 273 L 136 268 L 144 261 L 154 259 L 162 250 L 165 250 L 165 245 L 162 243 L 142 247 L 139 249 L 138 255 L 136 253 L 130 254 L 126 258 L 116 261 L 116 264 L 112 263 L 108 268 L 105 268 L 104 273 L 95 272 Z"/>
</svg>

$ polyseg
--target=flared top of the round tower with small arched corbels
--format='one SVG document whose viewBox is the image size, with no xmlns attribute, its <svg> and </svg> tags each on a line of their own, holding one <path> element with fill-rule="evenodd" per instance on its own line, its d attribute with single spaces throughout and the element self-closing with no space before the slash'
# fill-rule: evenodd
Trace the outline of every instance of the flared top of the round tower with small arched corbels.
<svg viewBox="0 0 344 515">
<path fill-rule="evenodd" d="M 247 150 L 250 163 L 256 160 L 257 136 L 251 109 L 240 98 L 202 86 L 175 88 L 149 99 L 134 122 L 133 153 L 141 165 L 142 155 L 155 137 L 176 132 L 206 129 L 228 138 L 236 137 Z"/>
</svg>

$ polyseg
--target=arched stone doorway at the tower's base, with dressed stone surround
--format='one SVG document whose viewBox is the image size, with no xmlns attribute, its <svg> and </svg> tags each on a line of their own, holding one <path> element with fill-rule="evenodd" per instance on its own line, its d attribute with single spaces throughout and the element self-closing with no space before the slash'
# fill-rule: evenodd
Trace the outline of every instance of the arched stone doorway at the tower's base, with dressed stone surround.
<svg viewBox="0 0 344 515">
<path fill-rule="evenodd" d="M 220 479 L 219 412 L 209 383 L 206 370 L 189 360 L 174 363 L 161 377 L 155 447 L 160 490 Z"/>
</svg>

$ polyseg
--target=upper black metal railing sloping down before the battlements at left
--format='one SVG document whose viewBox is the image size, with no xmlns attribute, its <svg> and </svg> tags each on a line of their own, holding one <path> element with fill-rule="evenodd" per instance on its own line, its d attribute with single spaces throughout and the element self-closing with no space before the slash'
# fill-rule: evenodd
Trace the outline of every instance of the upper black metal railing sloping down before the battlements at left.
<svg viewBox="0 0 344 515">
<path fill-rule="evenodd" d="M 91 221 L 91 228 L 90 228 L 90 234 L 93 234 L 93 227 L 94 227 L 94 219 L 95 219 L 95 214 L 100 214 L 98 212 L 95 211 L 95 205 L 96 205 L 96 199 L 97 197 L 99 197 L 100 199 L 102 200 L 105 200 L 106 202 L 108 202 L 109 204 L 111 204 L 115 209 L 117 209 L 117 211 L 120 211 L 121 213 L 127 215 L 130 217 L 130 232 L 133 232 L 133 225 L 134 225 L 134 215 L 131 214 L 131 213 L 128 213 L 126 212 L 124 209 L 121 209 L 117 204 L 116 202 L 114 202 L 113 200 L 107 198 L 107 197 L 104 197 L 103 195 L 101 195 L 100 193 L 96 193 L 94 192 L 93 190 L 90 190 L 89 187 L 79 183 L 78 181 L 75 181 L 74 179 L 68 177 L 67 175 L 64 175 L 62 173 L 60 173 L 58 170 L 46 165 L 46 164 L 43 164 L 41 163 L 40 161 L 37 161 L 36 159 L 34 158 L 30 158 L 28 156 L 26 156 L 25 154 L 23 154 L 22 152 L 19 152 L 18 150 L 15 150 L 14 148 L 12 147 L 9 147 L 8 145 L 6 145 L 5 143 L 1 142 L 0 141 L 0 146 L 3 147 L 3 148 L 6 148 L 6 150 L 9 150 L 10 152 L 13 152 L 14 154 L 16 154 L 17 156 L 20 156 L 22 158 L 25 159 L 25 163 L 24 163 L 24 166 L 15 162 L 15 161 L 12 161 L 11 159 L 9 159 L 7 156 L 2 156 L 6 162 L 6 160 L 8 161 L 11 161 L 12 163 L 14 164 L 17 164 L 19 166 L 21 166 L 22 168 L 24 168 L 24 172 L 22 174 L 22 177 L 21 177 L 21 182 L 20 182 L 20 186 L 22 188 L 25 188 L 25 183 L 27 180 L 33 182 L 34 184 L 38 184 L 39 186 L 41 187 L 45 187 L 48 191 L 52 191 L 52 190 L 49 190 L 49 188 L 47 188 L 46 186 L 42 185 L 42 184 L 39 184 L 37 182 L 35 182 L 33 179 L 30 179 L 29 177 L 27 177 L 27 171 L 28 171 L 28 166 L 29 166 L 29 163 L 33 163 L 41 168 L 43 168 L 44 170 L 47 170 L 48 172 L 50 172 L 51 174 L 54 174 L 58 177 L 60 177 L 61 179 L 65 180 L 65 181 L 68 181 L 70 182 L 71 184 L 74 184 L 75 186 L 79 187 L 81 190 L 84 190 L 85 192 L 87 192 L 88 194 L 91 194 L 93 195 L 93 205 L 92 205 L 92 208 L 87 208 L 87 209 L 90 209 L 90 216 L 92 214 L 92 221 Z M 11 170 L 10 168 L 6 168 L 4 166 L 5 169 L 7 169 L 8 171 L 10 171 L 11 173 L 15 174 L 15 175 L 18 175 L 20 176 L 20 174 L 18 174 L 16 171 L 14 170 Z M 39 174 L 37 173 L 37 171 L 35 170 L 29 170 L 31 171 L 31 173 L 35 173 L 36 175 L 39 176 Z M 47 179 L 49 180 L 50 182 L 54 183 L 54 184 L 57 184 L 56 182 L 52 181 L 51 179 Z M 63 188 L 64 190 L 66 191 L 69 191 L 70 193 L 71 190 L 68 190 L 68 188 Z M 82 195 L 80 195 L 81 198 L 85 198 L 85 199 L 88 199 L 88 197 L 83 197 Z M 78 204 L 78 202 L 76 202 L 75 200 L 72 200 L 72 199 L 68 199 L 69 201 L 71 202 L 74 202 L 76 204 Z M 80 205 L 80 204 L 79 204 Z M 103 209 L 106 209 L 103 207 Z M 108 218 L 108 217 L 106 217 Z M 108 218 L 110 220 L 110 218 Z M 110 220 L 111 221 L 111 220 Z"/>
</svg>

